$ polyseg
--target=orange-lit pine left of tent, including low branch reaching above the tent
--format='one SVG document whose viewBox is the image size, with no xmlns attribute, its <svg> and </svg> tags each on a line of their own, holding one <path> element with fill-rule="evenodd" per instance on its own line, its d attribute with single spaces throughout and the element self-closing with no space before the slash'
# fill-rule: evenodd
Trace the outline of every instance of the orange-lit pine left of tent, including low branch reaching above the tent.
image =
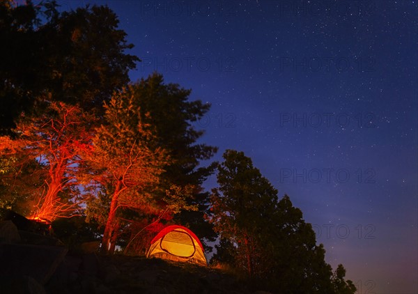
<svg viewBox="0 0 418 294">
<path fill-rule="evenodd" d="M 102 191 L 102 198 L 93 198 L 90 203 L 93 206 L 88 215 L 97 219 L 101 217 L 97 212 L 107 212 L 102 249 L 113 252 L 121 226 L 118 214 L 124 209 L 144 215 L 177 212 L 189 207 L 184 200 L 189 192 L 187 187 L 171 186 L 164 196 L 157 193 L 159 176 L 171 158 L 164 148 L 153 144 L 154 127 L 142 119 L 137 96 L 127 91 L 115 93 L 105 109 L 106 124 L 97 130 L 93 153 L 86 154 L 89 183 L 92 187 L 98 183 Z M 101 205 L 101 201 L 109 203 Z M 100 205 L 104 209 L 98 209 Z"/>
</svg>

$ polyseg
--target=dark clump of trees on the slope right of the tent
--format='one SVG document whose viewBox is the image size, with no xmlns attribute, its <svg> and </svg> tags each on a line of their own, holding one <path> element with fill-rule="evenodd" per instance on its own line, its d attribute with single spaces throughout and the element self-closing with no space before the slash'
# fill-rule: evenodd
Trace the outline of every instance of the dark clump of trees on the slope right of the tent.
<svg viewBox="0 0 418 294">
<path fill-rule="evenodd" d="M 226 150 L 223 157 L 211 196 L 212 222 L 222 241 L 215 258 L 233 258 L 233 265 L 270 291 L 355 293 L 353 283 L 343 280 L 345 271 L 337 269 L 338 278 L 332 278 L 323 245 L 316 245 L 311 224 L 290 198 L 278 200 L 277 190 L 244 153 Z"/>
</svg>

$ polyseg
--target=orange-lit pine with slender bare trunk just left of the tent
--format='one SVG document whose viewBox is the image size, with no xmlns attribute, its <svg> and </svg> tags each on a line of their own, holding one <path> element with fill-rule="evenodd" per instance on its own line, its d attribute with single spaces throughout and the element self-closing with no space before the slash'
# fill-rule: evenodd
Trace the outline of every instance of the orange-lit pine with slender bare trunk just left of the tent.
<svg viewBox="0 0 418 294">
<path fill-rule="evenodd" d="M 109 193 L 102 239 L 102 249 L 107 252 L 114 245 L 112 236 L 118 231 L 118 209 L 150 210 L 155 205 L 150 189 L 158 182 L 168 158 L 162 148 L 151 148 L 148 144 L 153 133 L 141 121 L 134 97 L 118 93 L 105 109 L 106 124 L 98 128 L 93 153 L 86 157 L 93 172 L 91 183 L 100 184 Z"/>
</svg>

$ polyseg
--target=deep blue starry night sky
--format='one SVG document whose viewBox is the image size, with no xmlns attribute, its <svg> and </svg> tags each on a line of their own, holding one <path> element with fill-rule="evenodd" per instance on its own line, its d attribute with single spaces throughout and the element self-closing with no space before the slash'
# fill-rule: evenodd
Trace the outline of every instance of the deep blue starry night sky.
<svg viewBox="0 0 418 294">
<path fill-rule="evenodd" d="M 132 80 L 211 103 L 196 126 L 214 160 L 251 157 L 357 293 L 418 293 L 417 1 L 58 2 L 107 4 Z"/>
</svg>

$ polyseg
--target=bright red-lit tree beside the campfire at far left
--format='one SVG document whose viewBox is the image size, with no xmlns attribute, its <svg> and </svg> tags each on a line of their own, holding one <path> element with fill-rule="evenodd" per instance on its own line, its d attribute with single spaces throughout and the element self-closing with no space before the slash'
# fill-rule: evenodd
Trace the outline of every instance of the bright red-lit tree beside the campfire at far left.
<svg viewBox="0 0 418 294">
<path fill-rule="evenodd" d="M 47 111 L 37 118 L 24 118 L 17 125 L 17 139 L 8 142 L 20 160 L 17 167 L 28 167 L 37 162 L 38 176 L 44 179 L 34 198 L 38 201 L 31 218 L 48 219 L 79 214 L 81 194 L 77 172 L 84 149 L 91 148 L 91 125 L 95 118 L 77 106 L 52 102 Z M 6 140 L 4 141 L 6 142 Z M 17 174 L 15 174 L 17 176 Z M 32 178 L 36 174 L 31 175 Z"/>
</svg>

